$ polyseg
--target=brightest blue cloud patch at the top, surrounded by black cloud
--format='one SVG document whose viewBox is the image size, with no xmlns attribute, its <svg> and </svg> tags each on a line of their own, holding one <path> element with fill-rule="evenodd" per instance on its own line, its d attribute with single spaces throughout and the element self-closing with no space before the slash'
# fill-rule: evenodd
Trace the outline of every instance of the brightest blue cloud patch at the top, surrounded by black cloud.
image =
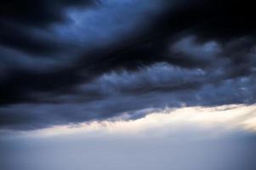
<svg viewBox="0 0 256 170">
<path fill-rule="evenodd" d="M 133 37 L 143 31 L 151 17 L 151 20 L 162 14 L 166 8 L 162 0 L 154 2 L 144 0 L 137 3 L 128 1 L 101 1 L 97 8 L 71 8 L 66 10 L 65 15 L 68 23 L 55 24 L 51 31 L 62 42 L 74 43 L 81 48 L 95 48 L 110 45 L 111 43 Z M 135 5 L 136 4 L 136 5 Z"/>
</svg>

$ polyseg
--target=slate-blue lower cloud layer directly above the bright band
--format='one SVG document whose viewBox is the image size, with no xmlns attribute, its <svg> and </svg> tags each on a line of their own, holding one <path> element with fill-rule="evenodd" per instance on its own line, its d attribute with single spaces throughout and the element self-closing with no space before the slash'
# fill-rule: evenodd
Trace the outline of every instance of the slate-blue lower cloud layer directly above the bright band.
<svg viewBox="0 0 256 170">
<path fill-rule="evenodd" d="M 33 104 L 2 107 L 1 126 L 34 129 L 123 114 L 138 118 L 149 108 L 255 102 L 255 76 L 225 79 L 225 71 L 222 74 L 163 63 L 134 72 L 110 72 L 77 86 L 71 94 L 37 94 L 40 99 Z"/>
</svg>

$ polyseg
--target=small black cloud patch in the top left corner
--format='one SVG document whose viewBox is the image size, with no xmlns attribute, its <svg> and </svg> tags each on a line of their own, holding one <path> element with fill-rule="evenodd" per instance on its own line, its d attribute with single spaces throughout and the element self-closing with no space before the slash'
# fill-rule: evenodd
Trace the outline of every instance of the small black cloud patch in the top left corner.
<svg viewBox="0 0 256 170">
<path fill-rule="evenodd" d="M 63 12 L 67 7 L 85 6 L 94 0 L 17 1 L 3 0 L 0 3 L 1 19 L 18 22 L 21 25 L 47 26 L 65 20 Z"/>
</svg>

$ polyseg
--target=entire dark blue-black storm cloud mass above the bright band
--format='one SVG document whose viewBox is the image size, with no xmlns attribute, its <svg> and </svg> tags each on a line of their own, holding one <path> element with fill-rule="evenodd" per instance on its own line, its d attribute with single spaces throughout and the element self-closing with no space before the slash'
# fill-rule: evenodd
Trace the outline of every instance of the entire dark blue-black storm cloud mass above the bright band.
<svg viewBox="0 0 256 170">
<path fill-rule="evenodd" d="M 0 128 L 256 101 L 251 1 L 2 1 L 0 11 Z"/>
</svg>

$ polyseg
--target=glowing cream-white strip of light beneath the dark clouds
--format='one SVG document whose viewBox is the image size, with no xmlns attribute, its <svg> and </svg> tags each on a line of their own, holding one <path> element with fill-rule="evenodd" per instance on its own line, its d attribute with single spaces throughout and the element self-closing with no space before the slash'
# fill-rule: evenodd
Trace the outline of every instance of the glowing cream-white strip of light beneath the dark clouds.
<svg viewBox="0 0 256 170">
<path fill-rule="evenodd" d="M 213 129 L 221 128 L 221 132 Z M 176 110 L 165 109 L 152 112 L 147 116 L 124 121 L 106 120 L 103 122 L 84 122 L 76 126 L 57 126 L 26 134 L 32 136 L 52 136 L 72 133 L 82 134 L 148 134 L 152 131 L 175 133 L 176 131 L 200 129 L 202 132 L 213 130 L 225 133 L 232 129 L 256 131 L 256 105 L 224 105 L 218 107 L 185 107 Z M 157 135 L 152 134 L 152 135 Z"/>
</svg>

